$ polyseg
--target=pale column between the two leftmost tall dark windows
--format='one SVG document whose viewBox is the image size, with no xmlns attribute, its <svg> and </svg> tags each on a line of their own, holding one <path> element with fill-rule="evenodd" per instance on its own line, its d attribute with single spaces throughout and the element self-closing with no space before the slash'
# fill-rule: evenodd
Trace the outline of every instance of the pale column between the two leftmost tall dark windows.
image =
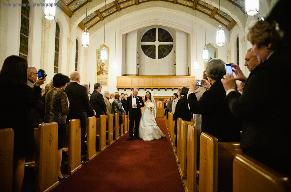
<svg viewBox="0 0 291 192">
<path fill-rule="evenodd" d="M 49 69 L 49 29 L 52 24 L 48 19 L 42 19 L 42 42 L 40 48 L 40 69 Z"/>
</svg>

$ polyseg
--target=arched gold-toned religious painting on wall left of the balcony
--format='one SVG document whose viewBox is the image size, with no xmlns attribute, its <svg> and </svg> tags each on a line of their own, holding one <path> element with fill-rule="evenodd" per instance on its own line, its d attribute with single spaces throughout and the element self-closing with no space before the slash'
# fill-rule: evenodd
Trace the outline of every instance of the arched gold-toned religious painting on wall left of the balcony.
<svg viewBox="0 0 291 192">
<path fill-rule="evenodd" d="M 96 50 L 96 83 L 101 83 L 102 86 L 109 86 L 109 48 L 106 45 L 104 46 L 107 52 L 106 61 L 101 61 L 101 50 L 103 44 Z"/>
</svg>

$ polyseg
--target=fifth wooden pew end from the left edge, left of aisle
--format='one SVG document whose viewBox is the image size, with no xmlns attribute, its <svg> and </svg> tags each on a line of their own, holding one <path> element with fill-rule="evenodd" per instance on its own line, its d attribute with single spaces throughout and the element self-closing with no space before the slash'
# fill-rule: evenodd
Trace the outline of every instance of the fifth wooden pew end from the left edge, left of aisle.
<svg viewBox="0 0 291 192">
<path fill-rule="evenodd" d="M 99 137 L 99 151 L 106 149 L 106 115 L 96 119 L 96 137 Z"/>
</svg>

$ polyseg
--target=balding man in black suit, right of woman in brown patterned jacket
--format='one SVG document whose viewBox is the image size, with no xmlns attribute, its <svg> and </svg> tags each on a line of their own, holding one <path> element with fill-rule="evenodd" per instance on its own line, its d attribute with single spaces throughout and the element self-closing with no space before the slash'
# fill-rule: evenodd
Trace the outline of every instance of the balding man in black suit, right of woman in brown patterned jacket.
<svg viewBox="0 0 291 192">
<path fill-rule="evenodd" d="M 93 110 L 90 103 L 87 89 L 80 85 L 81 76 L 79 72 L 71 73 L 71 83 L 66 87 L 66 94 L 70 101 L 70 112 L 67 115 L 67 123 L 70 119 L 80 119 L 81 120 L 81 155 L 84 154 L 85 149 L 85 132 L 87 117 L 95 116 L 96 112 Z M 82 161 L 82 165 L 86 162 Z"/>
</svg>

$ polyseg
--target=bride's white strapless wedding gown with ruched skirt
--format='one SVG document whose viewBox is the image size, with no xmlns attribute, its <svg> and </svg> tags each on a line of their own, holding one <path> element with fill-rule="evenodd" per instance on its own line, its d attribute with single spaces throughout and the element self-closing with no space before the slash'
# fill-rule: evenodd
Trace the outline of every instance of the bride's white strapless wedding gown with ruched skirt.
<svg viewBox="0 0 291 192">
<path fill-rule="evenodd" d="M 152 102 L 145 102 L 145 109 L 142 112 L 142 117 L 139 122 L 139 138 L 145 141 L 151 141 L 153 139 L 160 139 L 165 137 L 163 132 L 157 126 L 153 111 L 147 107 Z"/>
</svg>

